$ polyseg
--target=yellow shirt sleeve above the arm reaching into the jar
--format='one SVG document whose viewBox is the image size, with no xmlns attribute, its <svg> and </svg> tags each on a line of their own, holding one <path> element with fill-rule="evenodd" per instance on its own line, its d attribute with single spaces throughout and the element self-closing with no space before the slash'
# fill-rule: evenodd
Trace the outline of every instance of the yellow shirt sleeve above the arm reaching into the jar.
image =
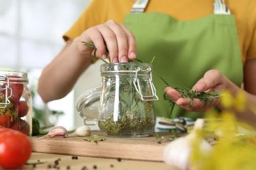
<svg viewBox="0 0 256 170">
<path fill-rule="evenodd" d="M 74 25 L 63 35 L 63 39 L 65 41 L 75 39 L 75 37 L 81 35 L 89 27 L 106 22 L 107 5 L 107 1 L 91 1 Z"/>
</svg>

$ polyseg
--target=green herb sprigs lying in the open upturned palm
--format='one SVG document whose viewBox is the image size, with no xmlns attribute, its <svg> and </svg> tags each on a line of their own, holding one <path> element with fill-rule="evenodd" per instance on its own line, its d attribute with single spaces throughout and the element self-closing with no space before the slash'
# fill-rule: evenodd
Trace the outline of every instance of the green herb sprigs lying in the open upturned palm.
<svg viewBox="0 0 256 170">
<path fill-rule="evenodd" d="M 169 86 L 169 84 L 163 78 L 161 78 L 161 80 L 163 80 L 163 82 L 165 82 L 165 84 Z M 220 92 L 198 92 L 197 90 L 192 90 L 190 88 L 174 88 L 174 89 L 177 90 L 179 93 L 181 93 L 181 96 L 179 97 L 190 99 L 190 104 L 188 105 L 188 107 L 196 107 L 193 104 L 193 99 L 200 99 L 200 101 L 203 101 L 205 105 L 207 103 L 211 105 L 211 103 L 213 102 L 213 99 L 215 98 L 219 99 L 221 97 Z M 175 102 L 169 97 L 169 95 L 167 95 L 167 93 L 163 94 L 163 99 L 169 101 L 169 103 L 171 104 L 171 112 L 172 112 Z M 171 112 L 170 112 L 170 115 L 171 115 Z"/>
</svg>

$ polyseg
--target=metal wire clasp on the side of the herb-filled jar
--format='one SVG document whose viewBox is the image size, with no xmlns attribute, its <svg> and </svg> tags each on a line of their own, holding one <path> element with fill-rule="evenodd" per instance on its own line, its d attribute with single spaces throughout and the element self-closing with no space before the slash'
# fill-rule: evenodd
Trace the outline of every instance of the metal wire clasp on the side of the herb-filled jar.
<svg viewBox="0 0 256 170">
<path fill-rule="evenodd" d="M 141 88 L 140 88 L 140 80 L 137 77 L 139 71 L 150 73 L 150 78 L 148 78 L 148 80 L 146 80 L 146 81 L 148 82 L 148 84 L 150 84 L 150 90 L 152 92 L 152 95 L 143 95 L 142 94 Z M 143 70 L 143 69 L 140 69 L 140 67 L 138 67 L 137 70 L 135 71 L 135 79 L 133 80 L 133 84 L 135 86 L 136 91 L 140 94 L 142 101 L 158 101 L 159 100 L 158 96 L 156 95 L 156 88 L 152 82 L 151 68 Z M 154 97 L 156 97 L 156 99 L 153 99 Z"/>
</svg>

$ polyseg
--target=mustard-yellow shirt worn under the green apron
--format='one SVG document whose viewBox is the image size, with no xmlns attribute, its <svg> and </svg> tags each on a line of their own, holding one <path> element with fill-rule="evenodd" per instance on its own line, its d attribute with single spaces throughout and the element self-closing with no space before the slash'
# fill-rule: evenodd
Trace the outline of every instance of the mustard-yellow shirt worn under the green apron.
<svg viewBox="0 0 256 170">
<path fill-rule="evenodd" d="M 93 0 L 64 35 L 64 39 L 75 39 L 94 25 L 114 20 L 123 24 L 135 0 Z M 162 12 L 177 20 L 196 20 L 213 14 L 213 0 L 149 0 L 144 12 Z M 226 0 L 231 14 L 236 16 L 238 39 L 243 64 L 247 59 L 256 58 L 256 1 Z"/>
</svg>

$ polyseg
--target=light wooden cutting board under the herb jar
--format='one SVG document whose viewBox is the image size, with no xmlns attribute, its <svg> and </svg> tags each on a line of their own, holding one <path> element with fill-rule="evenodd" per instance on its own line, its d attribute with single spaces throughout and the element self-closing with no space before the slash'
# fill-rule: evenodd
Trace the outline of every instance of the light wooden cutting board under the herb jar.
<svg viewBox="0 0 256 170">
<path fill-rule="evenodd" d="M 31 137 L 33 152 L 49 154 L 66 154 L 97 158 L 121 158 L 127 160 L 163 161 L 163 148 L 168 141 L 157 143 L 155 133 L 148 137 L 119 138 L 106 137 L 100 131 L 92 131 L 91 135 L 100 135 L 105 140 L 99 142 L 85 141 L 84 137 L 50 138 Z M 171 137 L 173 133 L 158 133 Z M 178 134 L 184 136 L 186 134 Z M 213 136 L 207 137 L 209 143 L 215 143 Z"/>
</svg>

